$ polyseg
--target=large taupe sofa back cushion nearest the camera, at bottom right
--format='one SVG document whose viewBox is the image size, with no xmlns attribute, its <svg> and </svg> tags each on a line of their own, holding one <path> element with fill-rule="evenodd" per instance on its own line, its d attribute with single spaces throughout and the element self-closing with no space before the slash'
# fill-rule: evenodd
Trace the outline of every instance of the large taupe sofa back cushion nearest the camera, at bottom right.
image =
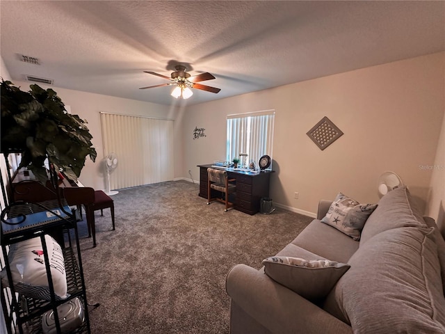
<svg viewBox="0 0 445 334">
<path fill-rule="evenodd" d="M 332 289 L 325 310 L 340 311 L 355 333 L 445 333 L 445 299 L 431 236 L 430 228 L 407 227 L 369 239 L 350 258 L 350 270 Z"/>
</svg>

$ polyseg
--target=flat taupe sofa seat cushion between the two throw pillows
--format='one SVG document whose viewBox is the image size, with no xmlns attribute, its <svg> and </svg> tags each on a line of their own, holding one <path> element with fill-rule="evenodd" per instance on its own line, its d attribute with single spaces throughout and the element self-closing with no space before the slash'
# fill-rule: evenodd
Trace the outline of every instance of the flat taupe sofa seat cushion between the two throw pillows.
<svg viewBox="0 0 445 334">
<path fill-rule="evenodd" d="M 309 223 L 298 234 L 298 237 L 293 239 L 292 244 L 305 248 L 325 259 L 343 263 L 348 262 L 349 258 L 359 248 L 359 241 L 355 241 L 336 228 L 321 223 L 317 219 Z"/>
</svg>

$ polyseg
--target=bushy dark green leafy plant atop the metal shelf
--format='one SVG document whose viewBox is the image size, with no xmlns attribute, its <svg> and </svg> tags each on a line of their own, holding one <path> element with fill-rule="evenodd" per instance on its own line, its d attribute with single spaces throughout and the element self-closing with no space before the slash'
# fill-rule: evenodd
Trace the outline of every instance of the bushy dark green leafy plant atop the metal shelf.
<svg viewBox="0 0 445 334">
<path fill-rule="evenodd" d="M 48 180 L 45 159 L 55 170 L 77 180 L 86 157 L 95 161 L 92 136 L 85 120 L 65 110 L 51 88 L 33 84 L 29 92 L 1 82 L 1 145 L 3 154 L 22 153 L 19 168 L 27 167 L 40 182 Z"/>
</svg>

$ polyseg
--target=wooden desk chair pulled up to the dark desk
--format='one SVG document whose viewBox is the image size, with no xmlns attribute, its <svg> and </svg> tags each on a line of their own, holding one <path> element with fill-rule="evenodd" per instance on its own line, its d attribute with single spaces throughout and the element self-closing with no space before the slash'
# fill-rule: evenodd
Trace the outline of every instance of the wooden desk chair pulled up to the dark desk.
<svg viewBox="0 0 445 334">
<path fill-rule="evenodd" d="M 224 211 L 227 211 L 230 207 L 234 206 L 234 203 L 229 202 L 229 194 L 236 191 L 236 185 L 230 182 L 234 182 L 235 179 L 229 179 L 227 171 L 220 169 L 207 168 L 207 204 L 218 200 L 225 204 Z M 212 189 L 220 191 L 220 197 L 212 197 Z M 223 196 L 224 195 L 224 196 Z"/>
</svg>

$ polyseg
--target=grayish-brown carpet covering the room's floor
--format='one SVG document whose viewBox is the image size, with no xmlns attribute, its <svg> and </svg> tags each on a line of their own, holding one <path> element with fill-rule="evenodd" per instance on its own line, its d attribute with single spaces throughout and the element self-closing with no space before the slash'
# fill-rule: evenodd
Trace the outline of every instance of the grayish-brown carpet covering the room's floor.
<svg viewBox="0 0 445 334">
<path fill-rule="evenodd" d="M 97 247 L 81 231 L 92 333 L 229 333 L 225 278 L 254 268 L 292 241 L 312 218 L 277 209 L 250 216 L 206 204 L 191 182 L 124 189 L 96 212 Z"/>
</svg>

